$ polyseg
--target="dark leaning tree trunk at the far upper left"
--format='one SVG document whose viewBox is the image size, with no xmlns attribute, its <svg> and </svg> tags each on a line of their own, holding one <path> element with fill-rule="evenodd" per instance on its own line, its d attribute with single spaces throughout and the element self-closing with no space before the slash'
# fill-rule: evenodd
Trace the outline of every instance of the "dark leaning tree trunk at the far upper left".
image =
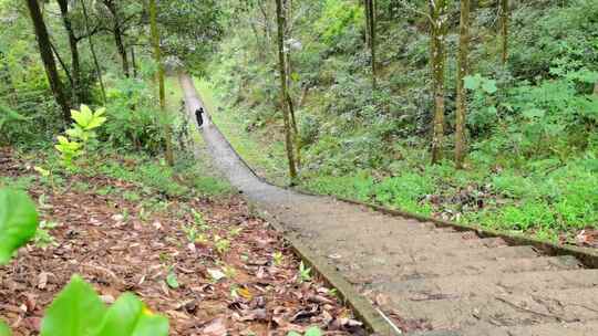
<svg viewBox="0 0 598 336">
<path fill-rule="evenodd" d="M 29 8 L 29 13 L 31 14 L 31 21 L 33 22 L 40 55 L 43 61 L 43 66 L 45 67 L 45 74 L 48 75 L 48 82 L 50 82 L 50 87 L 52 88 L 54 98 L 62 111 L 62 117 L 66 123 L 70 123 L 71 108 L 69 106 L 66 95 L 64 95 L 64 88 L 62 86 L 62 82 L 60 81 L 56 63 L 54 62 L 54 56 L 52 55 L 50 36 L 48 35 L 48 30 L 45 28 L 45 23 L 43 22 L 40 4 L 38 3 L 38 0 L 27 0 L 27 6 Z"/>
</svg>

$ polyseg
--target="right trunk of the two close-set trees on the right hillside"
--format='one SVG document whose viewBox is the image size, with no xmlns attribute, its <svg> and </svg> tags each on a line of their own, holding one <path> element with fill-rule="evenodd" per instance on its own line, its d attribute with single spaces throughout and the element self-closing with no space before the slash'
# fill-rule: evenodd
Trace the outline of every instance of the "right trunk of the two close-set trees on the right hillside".
<svg viewBox="0 0 598 336">
<path fill-rule="evenodd" d="M 461 0 L 461 22 L 458 32 L 457 99 L 455 122 L 455 162 L 463 168 L 467 140 L 465 135 L 467 116 L 467 96 L 463 78 L 470 71 L 470 0 Z"/>
</svg>

